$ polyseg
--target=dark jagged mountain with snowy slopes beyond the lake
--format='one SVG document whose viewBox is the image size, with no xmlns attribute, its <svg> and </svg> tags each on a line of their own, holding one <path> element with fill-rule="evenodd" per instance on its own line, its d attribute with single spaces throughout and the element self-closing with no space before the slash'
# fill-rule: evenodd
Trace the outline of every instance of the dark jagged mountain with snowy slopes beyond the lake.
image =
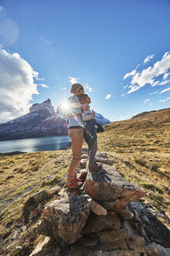
<svg viewBox="0 0 170 256">
<path fill-rule="evenodd" d="M 102 126 L 110 123 L 96 113 L 96 119 Z M 32 137 L 67 135 L 68 127 L 64 119 L 57 116 L 50 99 L 33 104 L 29 113 L 6 123 L 0 123 L 0 140 L 16 140 Z"/>
</svg>

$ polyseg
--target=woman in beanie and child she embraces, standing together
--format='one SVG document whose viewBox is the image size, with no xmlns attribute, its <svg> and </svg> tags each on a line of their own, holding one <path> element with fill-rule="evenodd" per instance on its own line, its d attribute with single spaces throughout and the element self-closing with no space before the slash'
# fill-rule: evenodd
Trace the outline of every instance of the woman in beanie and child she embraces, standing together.
<svg viewBox="0 0 170 256">
<path fill-rule="evenodd" d="M 91 103 L 88 94 L 84 94 L 82 84 L 72 84 L 69 105 L 71 106 L 68 116 L 68 135 L 71 137 L 72 159 L 68 169 L 67 187 L 76 189 L 82 186 L 82 180 L 76 176 L 78 163 L 82 155 L 82 140 L 85 133 L 85 141 L 88 143 L 89 171 L 98 171 L 101 165 L 95 163 L 95 153 L 97 151 L 97 136 L 95 132 L 95 112 L 91 112 Z M 82 105 L 81 105 L 82 103 Z M 85 123 L 85 122 L 86 123 Z M 86 129 L 84 129 L 86 128 Z"/>
</svg>

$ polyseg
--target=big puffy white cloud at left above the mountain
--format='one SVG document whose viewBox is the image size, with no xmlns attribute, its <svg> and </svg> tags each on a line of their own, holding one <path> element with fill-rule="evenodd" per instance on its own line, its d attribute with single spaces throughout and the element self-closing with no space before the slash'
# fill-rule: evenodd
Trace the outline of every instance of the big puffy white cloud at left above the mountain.
<svg viewBox="0 0 170 256">
<path fill-rule="evenodd" d="M 29 111 L 33 94 L 38 94 L 33 78 L 38 73 L 18 53 L 0 48 L 0 120 L 8 121 Z"/>
</svg>

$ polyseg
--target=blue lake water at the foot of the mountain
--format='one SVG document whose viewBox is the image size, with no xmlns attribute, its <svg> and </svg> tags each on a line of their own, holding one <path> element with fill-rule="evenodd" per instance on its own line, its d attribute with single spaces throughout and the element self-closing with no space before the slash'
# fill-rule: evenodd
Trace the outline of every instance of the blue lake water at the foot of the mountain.
<svg viewBox="0 0 170 256">
<path fill-rule="evenodd" d="M 50 151 L 69 148 L 71 139 L 68 136 L 40 137 L 23 140 L 0 141 L 0 153 L 22 151 Z"/>
</svg>

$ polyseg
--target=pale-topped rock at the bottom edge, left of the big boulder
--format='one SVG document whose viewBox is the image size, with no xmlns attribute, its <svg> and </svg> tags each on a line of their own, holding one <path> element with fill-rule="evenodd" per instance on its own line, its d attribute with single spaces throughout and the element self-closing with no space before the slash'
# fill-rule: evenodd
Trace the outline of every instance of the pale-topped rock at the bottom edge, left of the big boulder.
<svg viewBox="0 0 170 256">
<path fill-rule="evenodd" d="M 37 244 L 32 254 L 29 256 L 60 256 L 61 246 L 54 246 L 54 240 L 51 237 L 45 237 L 42 243 Z"/>
</svg>

